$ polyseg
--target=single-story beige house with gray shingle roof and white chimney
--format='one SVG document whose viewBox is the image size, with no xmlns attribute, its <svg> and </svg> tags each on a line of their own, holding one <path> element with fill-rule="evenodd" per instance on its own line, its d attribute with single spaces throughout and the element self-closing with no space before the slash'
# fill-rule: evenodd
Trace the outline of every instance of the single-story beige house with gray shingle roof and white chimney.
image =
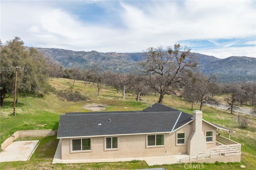
<svg viewBox="0 0 256 170">
<path fill-rule="evenodd" d="M 201 111 L 191 115 L 156 103 L 143 111 L 60 115 L 57 138 L 62 160 L 188 154 L 180 162 L 215 162 L 216 156 L 219 162 L 240 162 L 241 144 L 220 130 L 234 132 L 203 120 Z"/>
</svg>

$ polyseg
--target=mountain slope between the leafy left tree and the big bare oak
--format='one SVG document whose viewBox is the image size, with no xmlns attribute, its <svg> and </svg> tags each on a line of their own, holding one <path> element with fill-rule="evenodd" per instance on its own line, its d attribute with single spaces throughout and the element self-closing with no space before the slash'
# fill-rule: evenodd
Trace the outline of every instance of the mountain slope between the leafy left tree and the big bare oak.
<svg viewBox="0 0 256 170">
<path fill-rule="evenodd" d="M 88 69 L 91 63 L 102 63 L 104 69 L 116 72 L 128 72 L 134 69 L 136 61 L 143 59 L 142 53 L 100 53 L 97 51 L 72 51 L 55 48 L 37 48 L 46 56 L 60 62 L 64 68 Z"/>
</svg>

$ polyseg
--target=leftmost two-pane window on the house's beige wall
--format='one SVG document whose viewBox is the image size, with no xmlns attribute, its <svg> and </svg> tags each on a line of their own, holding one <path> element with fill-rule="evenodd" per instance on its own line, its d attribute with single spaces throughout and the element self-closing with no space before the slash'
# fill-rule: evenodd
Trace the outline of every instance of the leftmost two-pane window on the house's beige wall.
<svg viewBox="0 0 256 170">
<path fill-rule="evenodd" d="M 91 150 L 91 138 L 72 139 L 72 151 Z"/>
</svg>

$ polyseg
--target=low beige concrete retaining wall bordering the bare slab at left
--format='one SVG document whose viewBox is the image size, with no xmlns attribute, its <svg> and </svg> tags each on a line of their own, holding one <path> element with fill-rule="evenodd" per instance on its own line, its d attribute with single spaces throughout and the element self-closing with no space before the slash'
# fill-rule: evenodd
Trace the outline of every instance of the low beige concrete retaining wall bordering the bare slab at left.
<svg viewBox="0 0 256 170">
<path fill-rule="evenodd" d="M 42 129 L 42 130 L 18 130 L 14 134 L 10 135 L 2 144 L 1 150 L 6 148 L 9 144 L 11 144 L 17 138 L 22 137 L 37 137 L 37 136 L 54 136 L 57 134 L 58 130 L 52 129 Z"/>
</svg>

